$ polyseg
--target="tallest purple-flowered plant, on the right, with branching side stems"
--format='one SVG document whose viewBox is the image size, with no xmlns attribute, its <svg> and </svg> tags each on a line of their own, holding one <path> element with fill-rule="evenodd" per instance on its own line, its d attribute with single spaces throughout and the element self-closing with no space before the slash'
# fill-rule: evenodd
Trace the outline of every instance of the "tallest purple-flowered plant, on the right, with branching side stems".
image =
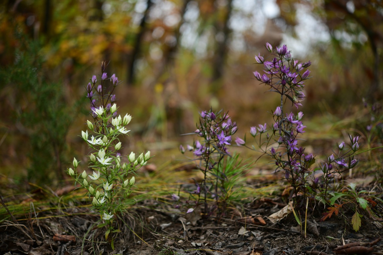
<svg viewBox="0 0 383 255">
<path fill-rule="evenodd" d="M 298 204 L 306 201 L 307 197 L 326 201 L 329 196 L 329 183 L 334 175 L 340 174 L 344 170 L 357 165 L 358 160 L 354 159 L 353 154 L 359 149 L 359 137 L 350 136 L 350 149 L 345 149 L 345 143 L 339 144 L 339 153 L 331 155 L 328 162 L 320 164 L 322 177 L 315 177 L 314 164 L 315 156 L 306 153 L 305 148 L 300 145 L 302 134 L 305 132 L 302 118 L 303 112 L 299 111 L 285 113 L 283 106 L 286 101 L 299 109 L 305 98 L 303 92 L 304 83 L 310 77 L 310 70 L 307 68 L 311 62 L 301 63 L 291 56 L 291 52 L 286 45 L 273 48 L 269 43 L 266 48 L 272 53 L 271 60 L 266 60 L 263 56 L 255 56 L 257 63 L 264 67 L 263 74 L 255 71 L 254 77 L 270 88 L 269 91 L 280 95 L 280 105 L 273 111 L 274 123 L 267 127 L 267 124 L 259 124 L 250 127 L 250 134 L 255 139 L 256 147 L 246 145 L 245 139 L 237 137 L 237 145 L 245 146 L 249 149 L 260 150 L 262 155 L 271 157 L 275 163 L 276 171 L 283 171 L 286 180 L 292 186 L 290 198 Z M 342 148 L 341 148 L 342 147 Z"/>
</svg>

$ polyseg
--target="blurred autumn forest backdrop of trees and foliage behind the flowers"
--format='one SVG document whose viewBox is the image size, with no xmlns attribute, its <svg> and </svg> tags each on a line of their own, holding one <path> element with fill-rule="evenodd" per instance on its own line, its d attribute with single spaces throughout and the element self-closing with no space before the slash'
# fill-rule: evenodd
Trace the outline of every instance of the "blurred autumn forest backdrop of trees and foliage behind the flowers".
<svg viewBox="0 0 383 255">
<path fill-rule="evenodd" d="M 127 154 L 168 157 L 210 107 L 240 134 L 267 122 L 278 96 L 252 75 L 266 42 L 313 62 L 306 119 L 364 116 L 362 98 L 383 96 L 382 21 L 381 0 L 2 1 L 2 178 L 57 183 L 73 156 L 86 165 L 85 86 L 101 60 L 123 81 L 119 113 L 133 116 Z"/>
</svg>

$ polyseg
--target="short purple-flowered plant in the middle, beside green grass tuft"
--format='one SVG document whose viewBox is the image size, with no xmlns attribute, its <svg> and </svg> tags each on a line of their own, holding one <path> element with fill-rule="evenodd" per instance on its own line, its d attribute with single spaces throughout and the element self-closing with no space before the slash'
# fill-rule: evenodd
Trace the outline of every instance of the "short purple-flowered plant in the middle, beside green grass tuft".
<svg viewBox="0 0 383 255">
<path fill-rule="evenodd" d="M 197 183 L 197 189 L 192 193 L 198 195 L 196 206 L 204 204 L 204 216 L 208 217 L 213 209 L 208 208 L 208 196 L 214 198 L 217 208 L 223 211 L 232 188 L 232 180 L 228 173 L 233 169 L 228 165 L 235 165 L 237 156 L 232 157 L 228 145 L 232 143 L 232 136 L 237 132 L 237 124 L 231 120 L 228 113 L 221 111 L 202 111 L 197 129 L 193 133 L 201 140 L 194 142 L 193 146 L 187 145 L 187 150 L 192 151 L 196 167 L 203 173 L 203 180 Z M 180 150 L 185 153 L 185 148 L 180 145 Z M 228 160 L 227 158 L 234 160 Z M 242 169 L 242 168 L 241 168 Z M 230 175 L 235 173 L 230 172 Z M 231 188 L 229 188 L 231 187 Z"/>
</svg>

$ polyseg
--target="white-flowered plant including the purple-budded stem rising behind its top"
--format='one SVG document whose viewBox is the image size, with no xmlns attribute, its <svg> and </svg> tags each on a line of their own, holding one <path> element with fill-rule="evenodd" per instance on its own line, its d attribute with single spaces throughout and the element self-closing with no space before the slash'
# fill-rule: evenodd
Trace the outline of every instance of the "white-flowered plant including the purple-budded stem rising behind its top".
<svg viewBox="0 0 383 255">
<path fill-rule="evenodd" d="M 104 69 L 105 64 L 102 64 L 101 70 Z M 91 210 L 95 209 L 100 212 L 103 222 L 98 227 L 106 226 L 108 228 L 105 232 L 105 239 L 108 239 L 111 232 L 119 232 L 114 228 L 115 215 L 123 211 L 127 204 L 131 187 L 135 182 L 134 172 L 146 165 L 150 158 L 150 151 L 147 151 L 138 157 L 131 152 L 127 156 L 127 160 L 121 159 L 119 150 L 122 148 L 122 143 L 119 141 L 119 136 L 129 132 L 125 126 L 129 124 L 132 117 L 128 114 L 124 117 L 117 116 L 115 95 L 111 95 L 111 93 L 118 85 L 118 78 L 115 74 L 111 76 L 110 82 L 113 85 L 111 92 L 105 92 L 104 86 L 107 79 L 107 74 L 103 72 L 101 84 L 97 85 L 97 77 L 93 75 L 87 86 L 93 117 L 93 120 L 87 120 L 87 126 L 92 133 L 88 133 L 88 130 L 81 131 L 81 137 L 92 149 L 87 157 L 90 160 L 88 169 L 93 173 L 88 175 L 87 170 L 80 173 L 77 170 L 79 162 L 75 158 L 73 168 L 67 169 L 67 173 L 75 179 L 75 182 L 80 183 L 87 190 L 89 201 L 92 204 Z M 93 95 L 94 90 L 95 95 Z M 108 103 L 109 100 L 110 103 Z M 113 239 L 111 239 L 111 245 L 113 246 Z"/>
</svg>

